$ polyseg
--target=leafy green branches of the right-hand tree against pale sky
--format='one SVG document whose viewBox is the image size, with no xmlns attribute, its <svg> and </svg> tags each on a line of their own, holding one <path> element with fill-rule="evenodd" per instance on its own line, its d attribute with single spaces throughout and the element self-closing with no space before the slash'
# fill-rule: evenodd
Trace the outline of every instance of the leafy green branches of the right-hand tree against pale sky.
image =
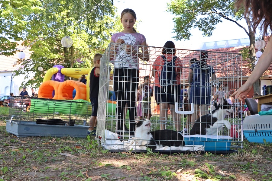
<svg viewBox="0 0 272 181">
<path fill-rule="evenodd" d="M 176 40 L 189 40 L 192 28 L 202 31 L 204 37 L 212 36 L 222 18 L 236 22 L 244 17 L 243 10 L 236 12 L 234 0 L 173 0 L 168 3 L 167 11 L 176 15 L 173 19 Z"/>
</svg>

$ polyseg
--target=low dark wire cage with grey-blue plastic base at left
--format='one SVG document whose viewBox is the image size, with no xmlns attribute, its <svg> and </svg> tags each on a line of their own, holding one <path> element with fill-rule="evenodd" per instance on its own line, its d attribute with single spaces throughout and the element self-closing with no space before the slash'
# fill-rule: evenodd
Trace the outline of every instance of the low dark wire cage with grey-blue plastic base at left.
<svg viewBox="0 0 272 181">
<path fill-rule="evenodd" d="M 86 137 L 92 123 L 92 103 L 11 97 L 7 132 L 18 137 Z"/>
</svg>

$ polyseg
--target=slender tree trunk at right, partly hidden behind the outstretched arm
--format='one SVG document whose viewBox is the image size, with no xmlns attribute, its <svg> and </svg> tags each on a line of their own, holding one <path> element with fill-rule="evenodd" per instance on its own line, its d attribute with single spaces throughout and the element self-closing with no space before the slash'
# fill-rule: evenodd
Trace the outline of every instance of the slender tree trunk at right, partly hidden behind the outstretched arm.
<svg viewBox="0 0 272 181">
<path fill-rule="evenodd" d="M 246 18 L 247 24 L 248 24 L 248 32 L 249 32 L 249 57 L 250 57 L 250 62 L 251 62 L 251 70 L 254 70 L 255 67 L 255 61 L 256 61 L 256 53 L 255 53 L 255 32 L 251 29 L 251 21 L 247 17 Z M 258 79 L 254 84 L 253 84 L 253 90 L 254 92 L 257 92 L 258 94 L 261 94 L 261 87 L 260 87 L 260 79 Z"/>
</svg>

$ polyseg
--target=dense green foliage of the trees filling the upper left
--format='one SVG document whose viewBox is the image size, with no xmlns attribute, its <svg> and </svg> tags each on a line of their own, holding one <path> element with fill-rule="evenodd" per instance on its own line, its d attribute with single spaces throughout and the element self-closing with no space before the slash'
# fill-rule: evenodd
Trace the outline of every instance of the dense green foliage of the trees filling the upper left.
<svg viewBox="0 0 272 181">
<path fill-rule="evenodd" d="M 103 53 L 111 35 L 121 29 L 120 17 L 115 15 L 116 9 L 111 1 L 105 0 L 98 5 L 100 2 L 1 1 L 0 49 L 15 49 L 16 41 L 22 40 L 22 45 L 30 47 L 32 51 L 29 59 L 18 60 L 23 68 L 17 70 L 16 75 L 31 78 L 34 74 L 33 79 L 23 83 L 24 86 L 39 87 L 45 72 L 56 64 L 65 68 L 92 67 L 93 56 Z M 91 11 L 95 6 L 96 10 Z M 64 36 L 72 38 L 71 47 L 61 45 Z M 15 51 L 4 54 L 13 53 Z M 38 71 L 39 66 L 44 70 Z"/>
</svg>

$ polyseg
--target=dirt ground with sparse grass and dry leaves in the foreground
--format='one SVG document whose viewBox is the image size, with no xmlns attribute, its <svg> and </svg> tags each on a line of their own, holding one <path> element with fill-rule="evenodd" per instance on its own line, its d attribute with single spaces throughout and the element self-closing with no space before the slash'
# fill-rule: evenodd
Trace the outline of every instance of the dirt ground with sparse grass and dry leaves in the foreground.
<svg viewBox="0 0 272 181">
<path fill-rule="evenodd" d="M 0 117 L 1 180 L 272 180 L 270 144 L 233 154 L 108 153 L 95 137 L 18 138 Z M 243 154 L 241 154 L 243 152 Z"/>
</svg>

